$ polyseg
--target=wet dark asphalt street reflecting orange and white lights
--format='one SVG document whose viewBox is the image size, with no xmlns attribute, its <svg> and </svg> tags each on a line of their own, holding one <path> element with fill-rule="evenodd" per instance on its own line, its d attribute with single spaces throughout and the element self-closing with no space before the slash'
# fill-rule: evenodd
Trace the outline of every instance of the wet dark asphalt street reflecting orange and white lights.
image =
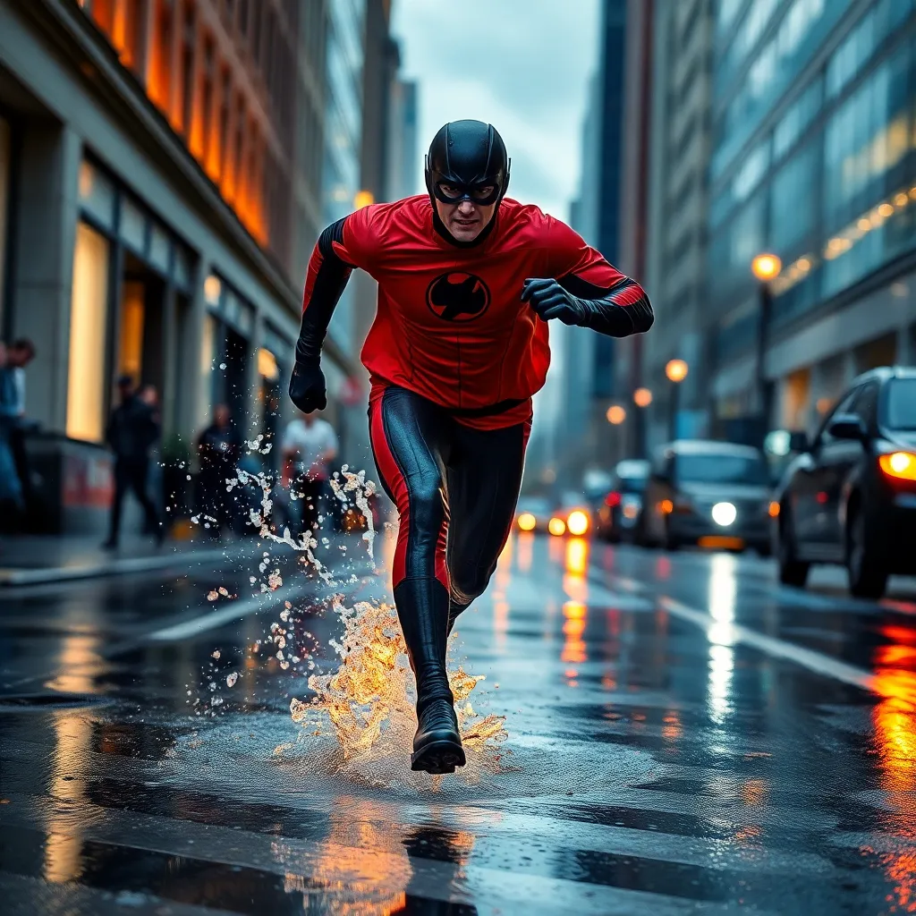
<svg viewBox="0 0 916 916">
<path fill-rule="evenodd" d="M 341 626 L 273 562 L 0 593 L 5 913 L 916 911 L 907 583 L 512 540 L 453 646 L 508 739 L 433 780 L 292 722 L 309 669 L 252 647 L 289 601 L 328 671 Z"/>
</svg>

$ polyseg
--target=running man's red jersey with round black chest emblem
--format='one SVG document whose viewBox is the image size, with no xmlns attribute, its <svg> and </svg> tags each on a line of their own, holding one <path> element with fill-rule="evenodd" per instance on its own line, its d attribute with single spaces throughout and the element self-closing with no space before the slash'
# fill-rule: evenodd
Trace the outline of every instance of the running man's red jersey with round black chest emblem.
<svg viewBox="0 0 916 916">
<path fill-rule="evenodd" d="M 625 279 L 568 225 L 510 199 L 480 245 L 451 245 L 433 228 L 429 197 L 419 195 L 351 213 L 333 251 L 378 283 L 362 352 L 373 397 L 398 385 L 452 409 L 522 402 L 493 416 L 456 417 L 478 429 L 529 419 L 530 398 L 547 376 L 548 322 L 521 301 L 525 279 L 574 275 L 605 289 Z M 316 246 L 306 310 L 321 265 Z"/>
</svg>

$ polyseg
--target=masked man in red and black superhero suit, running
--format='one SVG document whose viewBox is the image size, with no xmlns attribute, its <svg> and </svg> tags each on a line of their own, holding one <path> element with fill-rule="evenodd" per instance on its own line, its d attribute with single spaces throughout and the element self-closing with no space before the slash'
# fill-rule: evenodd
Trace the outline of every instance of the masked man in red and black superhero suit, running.
<svg viewBox="0 0 916 916">
<path fill-rule="evenodd" d="M 491 125 L 455 121 L 426 158 L 429 196 L 377 203 L 325 229 L 305 284 L 289 397 L 326 406 L 322 341 L 351 272 L 378 283 L 363 348 L 376 467 L 398 507 L 398 620 L 417 678 L 411 769 L 453 772 L 464 750 L 445 671 L 455 618 L 496 570 L 515 515 L 548 322 L 612 337 L 649 330 L 638 283 L 536 206 L 506 198 Z"/>
</svg>

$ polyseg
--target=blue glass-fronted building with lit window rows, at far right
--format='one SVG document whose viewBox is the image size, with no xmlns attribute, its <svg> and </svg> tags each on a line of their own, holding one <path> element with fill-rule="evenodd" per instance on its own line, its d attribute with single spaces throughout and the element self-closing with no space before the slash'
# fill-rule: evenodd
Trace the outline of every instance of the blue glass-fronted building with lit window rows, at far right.
<svg viewBox="0 0 916 916">
<path fill-rule="evenodd" d="M 916 355 L 916 4 L 719 0 L 711 117 L 717 414 L 759 409 L 762 334 L 763 375 L 778 390 L 769 422 L 803 426 L 856 372 Z M 750 272 L 763 251 L 783 265 L 766 327 Z M 866 300 L 878 316 L 871 339 L 848 311 Z M 848 320 L 815 333 L 840 312 Z M 805 358 L 792 338 L 807 328 L 818 345 Z"/>
</svg>

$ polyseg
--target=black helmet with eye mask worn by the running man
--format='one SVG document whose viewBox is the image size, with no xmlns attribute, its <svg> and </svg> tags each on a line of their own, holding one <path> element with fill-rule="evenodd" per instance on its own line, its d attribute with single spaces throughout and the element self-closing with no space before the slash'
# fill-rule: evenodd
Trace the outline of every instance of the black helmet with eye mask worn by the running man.
<svg viewBox="0 0 916 916">
<path fill-rule="evenodd" d="M 432 138 L 426 187 L 431 199 L 444 203 L 465 199 L 485 206 L 498 203 L 509 185 L 509 165 L 506 144 L 496 127 L 482 121 L 452 121 Z M 435 209 L 433 202 L 433 213 Z"/>
</svg>

